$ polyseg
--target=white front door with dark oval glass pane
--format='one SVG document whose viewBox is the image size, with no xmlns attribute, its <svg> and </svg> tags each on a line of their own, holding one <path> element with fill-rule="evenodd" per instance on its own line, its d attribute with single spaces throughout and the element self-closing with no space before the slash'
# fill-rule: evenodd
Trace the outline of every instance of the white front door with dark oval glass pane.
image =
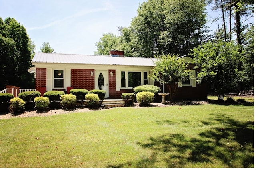
<svg viewBox="0 0 256 170">
<path fill-rule="evenodd" d="M 108 71 L 95 71 L 95 89 L 105 90 L 105 98 L 108 98 Z"/>
</svg>

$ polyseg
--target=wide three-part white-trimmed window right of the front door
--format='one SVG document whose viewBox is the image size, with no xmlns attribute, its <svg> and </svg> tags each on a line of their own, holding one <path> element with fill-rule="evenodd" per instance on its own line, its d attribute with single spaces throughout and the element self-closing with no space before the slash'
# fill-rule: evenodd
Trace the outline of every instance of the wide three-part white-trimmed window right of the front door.
<svg viewBox="0 0 256 170">
<path fill-rule="evenodd" d="M 139 85 L 148 84 L 147 71 L 121 71 L 121 88 L 132 89 Z"/>
</svg>

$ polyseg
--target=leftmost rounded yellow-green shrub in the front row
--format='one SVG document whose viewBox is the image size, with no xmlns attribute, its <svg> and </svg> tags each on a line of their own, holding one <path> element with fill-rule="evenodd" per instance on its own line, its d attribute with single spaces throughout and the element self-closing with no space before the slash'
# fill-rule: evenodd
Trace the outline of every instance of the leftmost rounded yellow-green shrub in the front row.
<svg viewBox="0 0 256 170">
<path fill-rule="evenodd" d="M 25 101 L 19 97 L 10 100 L 10 112 L 14 115 L 22 113 L 25 110 Z"/>
</svg>

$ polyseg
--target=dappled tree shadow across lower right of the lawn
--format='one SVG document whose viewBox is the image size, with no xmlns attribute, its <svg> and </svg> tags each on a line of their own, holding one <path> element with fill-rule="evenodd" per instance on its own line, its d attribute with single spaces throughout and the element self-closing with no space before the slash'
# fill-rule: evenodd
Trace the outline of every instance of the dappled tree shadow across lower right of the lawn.
<svg viewBox="0 0 256 170">
<path fill-rule="evenodd" d="M 149 142 L 138 142 L 152 154 L 138 160 L 108 167 L 253 167 L 254 125 L 253 122 L 240 122 L 219 113 L 212 114 L 209 122 L 217 121 L 216 126 L 191 138 L 184 134 L 164 134 L 150 137 Z M 171 121 L 163 123 L 172 124 Z M 202 122 L 205 123 L 205 122 Z M 207 124 L 206 124 L 207 126 Z"/>
</svg>

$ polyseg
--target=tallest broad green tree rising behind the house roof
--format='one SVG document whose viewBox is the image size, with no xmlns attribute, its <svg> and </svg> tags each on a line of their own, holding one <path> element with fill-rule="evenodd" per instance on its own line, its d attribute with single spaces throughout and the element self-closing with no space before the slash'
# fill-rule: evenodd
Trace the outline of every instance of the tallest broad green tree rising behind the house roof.
<svg viewBox="0 0 256 170">
<path fill-rule="evenodd" d="M 132 49 L 137 57 L 188 54 L 205 39 L 203 0 L 148 0 L 132 22 Z"/>
</svg>

